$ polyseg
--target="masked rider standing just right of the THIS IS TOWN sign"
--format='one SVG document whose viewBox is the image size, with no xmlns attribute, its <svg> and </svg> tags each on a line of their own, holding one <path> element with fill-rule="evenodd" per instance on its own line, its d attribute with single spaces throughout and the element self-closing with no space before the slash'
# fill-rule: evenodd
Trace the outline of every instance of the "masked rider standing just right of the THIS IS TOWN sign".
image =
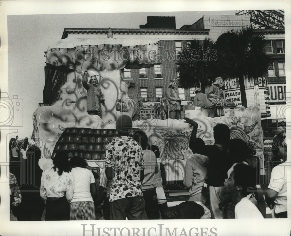
<svg viewBox="0 0 291 236">
<path fill-rule="evenodd" d="M 181 98 L 179 97 L 178 93 L 175 91 L 177 87 L 177 81 L 174 79 L 170 80 L 170 84 L 166 89 L 166 98 L 168 100 L 169 106 L 169 118 L 181 120 Z"/>
</svg>

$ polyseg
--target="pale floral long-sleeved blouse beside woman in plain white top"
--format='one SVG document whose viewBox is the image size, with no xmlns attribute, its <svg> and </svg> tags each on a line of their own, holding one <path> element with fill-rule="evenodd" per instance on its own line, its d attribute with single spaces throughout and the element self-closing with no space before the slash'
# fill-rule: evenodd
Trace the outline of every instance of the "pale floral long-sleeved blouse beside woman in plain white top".
<svg viewBox="0 0 291 236">
<path fill-rule="evenodd" d="M 71 172 L 63 172 L 58 175 L 58 168 L 45 169 L 42 172 L 40 183 L 40 196 L 46 201 L 47 197 L 61 198 L 66 196 L 70 202 L 74 194 L 74 182 Z"/>
</svg>

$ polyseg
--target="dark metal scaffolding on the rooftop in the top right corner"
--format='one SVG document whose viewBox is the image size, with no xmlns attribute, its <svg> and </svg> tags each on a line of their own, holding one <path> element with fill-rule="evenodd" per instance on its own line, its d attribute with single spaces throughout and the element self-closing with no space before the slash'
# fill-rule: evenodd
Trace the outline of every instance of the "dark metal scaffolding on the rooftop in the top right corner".
<svg viewBox="0 0 291 236">
<path fill-rule="evenodd" d="M 284 29 L 284 10 L 237 10 L 235 15 L 248 15 L 253 29 Z"/>
</svg>

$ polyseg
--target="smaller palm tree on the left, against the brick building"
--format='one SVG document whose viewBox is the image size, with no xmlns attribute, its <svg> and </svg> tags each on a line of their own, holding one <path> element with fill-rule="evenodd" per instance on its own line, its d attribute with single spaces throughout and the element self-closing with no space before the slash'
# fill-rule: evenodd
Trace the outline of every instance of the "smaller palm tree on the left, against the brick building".
<svg viewBox="0 0 291 236">
<path fill-rule="evenodd" d="M 203 41 L 191 40 L 181 52 L 178 52 L 176 64 L 179 85 L 182 88 L 200 87 L 201 83 L 202 93 L 205 93 L 205 86 L 212 84 L 212 80 L 215 78 L 213 73 L 215 57 L 210 55 L 210 50 L 213 45 L 214 41 L 209 38 L 205 38 Z"/>
</svg>

